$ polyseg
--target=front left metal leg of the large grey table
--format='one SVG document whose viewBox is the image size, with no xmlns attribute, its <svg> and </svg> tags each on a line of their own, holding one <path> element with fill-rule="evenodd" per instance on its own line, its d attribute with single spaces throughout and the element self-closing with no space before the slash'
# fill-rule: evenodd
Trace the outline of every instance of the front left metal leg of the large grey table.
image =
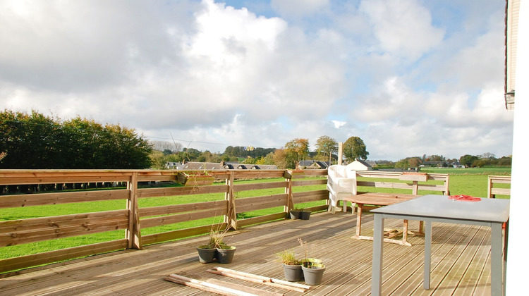
<svg viewBox="0 0 529 296">
<path fill-rule="evenodd" d="M 375 214 L 375 228 L 373 233 L 373 267 L 371 276 L 371 295 L 382 293 L 382 244 L 384 242 L 384 218 Z"/>
</svg>

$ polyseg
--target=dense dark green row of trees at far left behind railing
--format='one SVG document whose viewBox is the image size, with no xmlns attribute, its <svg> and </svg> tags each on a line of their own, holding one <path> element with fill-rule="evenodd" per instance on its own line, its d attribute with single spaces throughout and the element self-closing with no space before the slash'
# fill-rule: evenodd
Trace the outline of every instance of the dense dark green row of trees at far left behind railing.
<svg viewBox="0 0 529 296">
<path fill-rule="evenodd" d="M 150 168 L 152 147 L 135 130 L 86 118 L 0 112 L 0 168 Z"/>
</svg>

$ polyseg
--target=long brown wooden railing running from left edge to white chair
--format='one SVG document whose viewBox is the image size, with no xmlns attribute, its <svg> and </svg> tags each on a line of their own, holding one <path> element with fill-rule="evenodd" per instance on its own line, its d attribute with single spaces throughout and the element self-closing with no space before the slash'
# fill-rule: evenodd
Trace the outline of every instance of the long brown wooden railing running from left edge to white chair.
<svg viewBox="0 0 529 296">
<path fill-rule="evenodd" d="M 78 247 L 67 247 L 38 254 L 28 254 L 0 260 L 0 272 L 23 269 L 39 264 L 77 257 L 111 252 L 118 249 L 142 249 L 143 245 L 164 242 L 193 235 L 209 233 L 212 228 L 238 229 L 256 223 L 264 223 L 288 217 L 288 211 L 295 204 L 313 201 L 327 201 L 325 189 L 305 192 L 293 192 L 293 187 L 305 185 L 325 185 L 326 178 L 312 178 L 327 175 L 326 170 L 305 170 L 300 174 L 291 174 L 285 170 L 249 171 L 224 170 L 208 171 L 214 175 L 214 185 L 196 185 L 188 187 L 142 187 L 138 184 L 154 181 L 174 181 L 178 171 L 145 170 L 0 170 L 0 187 L 19 188 L 32 185 L 70 188 L 73 184 L 121 183 L 121 189 L 89 190 L 83 186 L 80 190 L 61 192 L 43 192 L 32 194 L 0 195 L 0 252 L 10 246 L 42 242 L 56 238 L 77 237 L 114 230 L 124 230 L 124 238 L 109 240 Z M 237 179 L 284 178 L 281 181 L 267 183 L 234 183 Z M 219 183 L 220 184 L 219 184 Z M 248 190 L 284 188 L 284 193 L 239 198 L 237 195 Z M 139 201 L 159 197 L 188 197 L 190 195 L 219 195 L 218 199 L 207 202 L 177 203 L 164 206 L 138 206 Z M 224 195 L 224 197 L 222 197 Z M 5 220 L 1 213 L 8 208 L 28 206 L 61 206 L 71 203 L 104 202 L 123 200 L 123 209 L 111 209 L 60 216 L 42 216 Z M 281 211 L 253 218 L 238 219 L 237 214 L 260 209 L 282 206 Z M 327 202 L 312 206 L 312 211 L 327 209 Z M 203 218 L 223 217 L 219 223 L 192 228 L 168 230 L 160 233 L 142 235 L 142 230 L 157 226 L 177 225 Z"/>
</svg>

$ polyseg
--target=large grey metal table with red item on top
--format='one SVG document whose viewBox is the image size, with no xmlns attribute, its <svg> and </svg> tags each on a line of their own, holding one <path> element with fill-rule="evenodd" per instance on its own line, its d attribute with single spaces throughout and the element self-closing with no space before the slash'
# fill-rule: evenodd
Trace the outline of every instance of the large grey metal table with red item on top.
<svg viewBox="0 0 529 296">
<path fill-rule="evenodd" d="M 382 241 L 385 218 L 425 221 L 424 288 L 426 290 L 430 289 L 432 222 L 490 227 L 492 229 L 491 290 L 492 295 L 503 295 L 509 235 L 509 204 L 509 199 L 485 198 L 478 202 L 468 202 L 449 199 L 445 195 L 425 195 L 372 210 L 375 213 L 375 234 L 373 235 L 375 239 L 373 241 L 371 295 L 380 295 L 382 292 Z M 503 223 L 506 223 L 506 227 L 502 244 L 501 226 Z"/>
</svg>

